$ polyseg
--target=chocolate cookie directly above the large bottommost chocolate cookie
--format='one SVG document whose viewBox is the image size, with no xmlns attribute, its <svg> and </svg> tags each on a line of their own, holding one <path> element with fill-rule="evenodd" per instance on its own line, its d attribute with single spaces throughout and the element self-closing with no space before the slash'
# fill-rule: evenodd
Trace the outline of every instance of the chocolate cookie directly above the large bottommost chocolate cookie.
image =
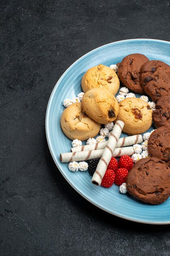
<svg viewBox="0 0 170 256">
<path fill-rule="evenodd" d="M 148 139 L 148 154 L 158 157 L 170 167 L 170 125 L 161 126 Z"/>
</svg>

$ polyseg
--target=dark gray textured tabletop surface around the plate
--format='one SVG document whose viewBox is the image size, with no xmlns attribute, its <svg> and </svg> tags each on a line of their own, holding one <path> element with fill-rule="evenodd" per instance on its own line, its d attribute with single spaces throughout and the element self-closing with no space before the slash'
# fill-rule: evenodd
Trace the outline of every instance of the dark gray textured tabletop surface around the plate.
<svg viewBox="0 0 170 256">
<path fill-rule="evenodd" d="M 0 1 L 0 254 L 170 255 L 170 226 L 122 220 L 64 180 L 45 115 L 63 72 L 117 40 L 170 40 L 170 1 Z M 126 211 L 126 209 L 124 209 Z"/>
</svg>

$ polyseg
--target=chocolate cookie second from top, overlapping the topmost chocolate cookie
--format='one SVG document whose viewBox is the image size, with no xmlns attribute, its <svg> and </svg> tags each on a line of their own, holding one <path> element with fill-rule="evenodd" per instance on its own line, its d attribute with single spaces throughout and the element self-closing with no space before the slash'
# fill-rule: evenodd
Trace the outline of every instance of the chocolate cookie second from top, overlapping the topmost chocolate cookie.
<svg viewBox="0 0 170 256">
<path fill-rule="evenodd" d="M 170 66 L 162 61 L 147 61 L 141 68 L 140 84 L 155 102 L 170 94 Z"/>
</svg>

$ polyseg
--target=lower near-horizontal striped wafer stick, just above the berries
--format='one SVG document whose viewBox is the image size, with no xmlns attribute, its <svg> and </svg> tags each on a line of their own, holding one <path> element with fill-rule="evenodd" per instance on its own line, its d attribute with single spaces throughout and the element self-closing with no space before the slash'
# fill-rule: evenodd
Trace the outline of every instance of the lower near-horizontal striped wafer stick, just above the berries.
<svg viewBox="0 0 170 256">
<path fill-rule="evenodd" d="M 72 161 L 86 161 L 94 158 L 100 158 L 104 149 L 78 151 L 60 154 L 61 163 L 67 163 Z M 121 157 L 122 155 L 133 155 L 133 147 L 115 148 L 113 151 L 113 157 Z"/>
</svg>

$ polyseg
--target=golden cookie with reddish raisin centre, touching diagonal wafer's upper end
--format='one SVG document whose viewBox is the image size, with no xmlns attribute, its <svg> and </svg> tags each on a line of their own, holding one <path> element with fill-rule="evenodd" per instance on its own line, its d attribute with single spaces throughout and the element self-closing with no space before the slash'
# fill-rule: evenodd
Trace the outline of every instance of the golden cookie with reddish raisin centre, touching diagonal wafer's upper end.
<svg viewBox="0 0 170 256">
<path fill-rule="evenodd" d="M 146 101 L 139 98 L 126 98 L 119 103 L 120 110 L 115 121 L 124 122 L 123 132 L 140 134 L 152 125 L 152 110 Z"/>
</svg>

